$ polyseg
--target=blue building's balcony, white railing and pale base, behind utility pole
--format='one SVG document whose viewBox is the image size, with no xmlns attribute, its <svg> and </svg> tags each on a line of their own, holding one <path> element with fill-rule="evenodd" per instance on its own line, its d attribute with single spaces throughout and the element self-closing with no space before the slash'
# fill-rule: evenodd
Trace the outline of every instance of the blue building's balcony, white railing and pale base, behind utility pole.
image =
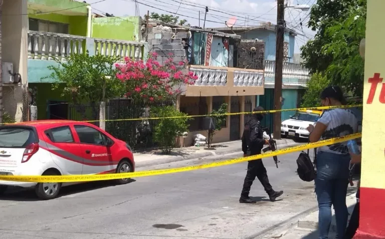
<svg viewBox="0 0 385 239">
<path fill-rule="evenodd" d="M 300 64 L 283 62 L 282 81 L 284 86 L 306 86 L 310 79 L 309 70 L 303 68 Z M 265 60 L 265 86 L 274 87 L 275 61 Z"/>
</svg>

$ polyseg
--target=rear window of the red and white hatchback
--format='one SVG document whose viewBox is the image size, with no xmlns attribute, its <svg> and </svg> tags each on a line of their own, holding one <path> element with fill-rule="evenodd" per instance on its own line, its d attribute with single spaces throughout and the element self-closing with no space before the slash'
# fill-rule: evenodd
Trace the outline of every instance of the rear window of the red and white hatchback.
<svg viewBox="0 0 385 239">
<path fill-rule="evenodd" d="M 29 128 L 0 128 L 0 147 L 26 147 L 36 141 L 35 133 Z"/>
</svg>

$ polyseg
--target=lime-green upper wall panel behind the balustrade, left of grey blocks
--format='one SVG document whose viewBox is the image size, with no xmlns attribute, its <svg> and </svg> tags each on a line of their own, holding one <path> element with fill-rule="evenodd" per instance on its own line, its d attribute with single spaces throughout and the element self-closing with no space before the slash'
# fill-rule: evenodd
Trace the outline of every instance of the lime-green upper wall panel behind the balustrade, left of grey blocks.
<svg viewBox="0 0 385 239">
<path fill-rule="evenodd" d="M 139 16 L 94 17 L 92 19 L 92 37 L 131 40 L 139 37 Z"/>
</svg>

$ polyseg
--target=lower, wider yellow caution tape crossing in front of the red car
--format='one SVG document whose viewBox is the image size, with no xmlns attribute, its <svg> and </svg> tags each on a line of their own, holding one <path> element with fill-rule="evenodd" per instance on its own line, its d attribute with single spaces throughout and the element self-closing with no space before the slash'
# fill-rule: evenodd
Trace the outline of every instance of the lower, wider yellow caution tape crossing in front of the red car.
<svg viewBox="0 0 385 239">
<path fill-rule="evenodd" d="M 185 166 L 185 167 L 176 167 L 168 169 L 158 169 L 158 170 L 148 170 L 148 171 L 137 171 L 137 172 L 124 172 L 124 173 L 109 173 L 109 174 L 87 174 L 87 175 L 60 175 L 60 176 L 10 176 L 10 175 L 0 175 L 0 180 L 6 181 L 22 181 L 22 182 L 81 182 L 81 181 L 99 181 L 99 180 L 111 180 L 111 179 L 121 179 L 129 177 L 143 177 L 143 176 L 154 176 L 161 174 L 169 174 L 175 172 L 184 172 L 197 170 L 202 168 L 217 167 L 223 165 L 229 165 L 239 162 L 245 162 L 250 160 L 257 160 L 265 157 L 272 157 L 276 155 L 282 155 L 285 153 L 291 153 L 295 151 L 301 151 L 309 148 L 315 148 L 320 146 L 325 146 L 333 143 L 343 142 L 354 138 L 361 137 L 361 133 L 349 134 L 342 137 L 336 137 L 331 139 L 326 139 L 318 142 L 298 145 L 294 147 L 279 149 L 274 152 L 267 152 L 264 154 L 253 155 L 249 157 L 240 157 L 224 161 L 205 163 L 196 166 Z"/>
</svg>

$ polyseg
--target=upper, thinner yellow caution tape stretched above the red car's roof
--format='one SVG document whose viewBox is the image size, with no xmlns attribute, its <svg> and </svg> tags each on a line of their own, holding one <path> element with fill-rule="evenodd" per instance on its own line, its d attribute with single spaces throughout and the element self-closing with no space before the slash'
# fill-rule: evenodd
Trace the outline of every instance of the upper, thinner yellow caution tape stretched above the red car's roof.
<svg viewBox="0 0 385 239">
<path fill-rule="evenodd" d="M 254 113 L 277 113 L 277 112 L 287 112 L 287 111 L 298 111 L 298 110 L 324 110 L 324 109 L 333 109 L 333 108 L 353 108 L 353 107 L 362 107 L 362 104 L 352 104 L 352 105 L 335 105 L 335 106 L 320 106 L 320 107 L 308 107 L 308 108 L 288 108 L 288 109 L 272 109 L 256 112 L 236 112 L 236 113 L 222 113 L 222 114 L 201 114 L 201 115 L 185 115 L 185 116 L 168 116 L 168 117 L 147 117 L 147 118 L 120 118 L 120 119 L 99 119 L 99 120 L 76 120 L 78 122 L 112 122 L 112 121 L 137 121 L 137 120 L 150 120 L 150 119 L 164 119 L 164 118 L 197 118 L 197 117 L 213 117 L 213 116 L 223 116 L 223 115 L 241 115 L 241 114 L 254 114 Z M 65 122 L 73 122 L 74 120 L 63 120 Z M 29 121 L 28 124 L 32 123 L 53 123 L 57 122 L 55 120 L 45 120 L 45 121 Z M 16 123 L 0 123 L 1 124 L 23 124 L 25 122 L 16 122 Z"/>
</svg>

